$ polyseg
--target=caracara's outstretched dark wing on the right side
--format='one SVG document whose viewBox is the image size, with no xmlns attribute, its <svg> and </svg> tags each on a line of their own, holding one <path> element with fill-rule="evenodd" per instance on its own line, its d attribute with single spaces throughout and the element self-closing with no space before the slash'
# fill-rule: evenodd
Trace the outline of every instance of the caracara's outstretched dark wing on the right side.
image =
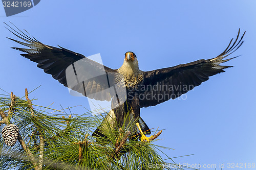
<svg viewBox="0 0 256 170">
<path fill-rule="evenodd" d="M 232 67 L 220 64 L 236 58 L 224 59 L 242 45 L 244 34 L 238 41 L 239 34 L 240 29 L 236 40 L 232 43 L 233 39 L 231 39 L 226 50 L 215 58 L 144 72 L 144 83 L 137 90 L 140 107 L 155 106 L 169 99 L 176 99 L 208 80 L 210 76 L 225 72 L 223 69 Z"/>
</svg>

